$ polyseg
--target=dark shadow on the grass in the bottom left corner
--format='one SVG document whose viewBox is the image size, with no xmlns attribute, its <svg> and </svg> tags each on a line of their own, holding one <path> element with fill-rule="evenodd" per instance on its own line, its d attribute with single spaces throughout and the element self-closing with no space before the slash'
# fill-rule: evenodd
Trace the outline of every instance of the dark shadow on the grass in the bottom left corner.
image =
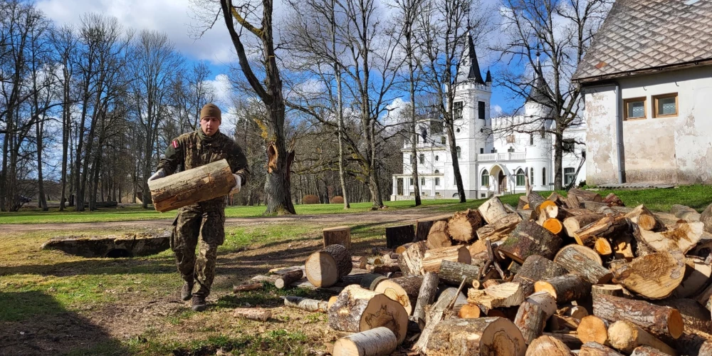
<svg viewBox="0 0 712 356">
<path fill-rule="evenodd" d="M 118 340 L 51 295 L 0 292 L 0 355 L 128 355 Z"/>
</svg>

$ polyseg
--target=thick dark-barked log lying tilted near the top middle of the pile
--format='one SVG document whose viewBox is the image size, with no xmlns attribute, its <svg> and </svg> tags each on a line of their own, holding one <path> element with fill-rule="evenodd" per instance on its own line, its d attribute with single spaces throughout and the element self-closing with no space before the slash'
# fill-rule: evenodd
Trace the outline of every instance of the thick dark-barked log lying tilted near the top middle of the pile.
<svg viewBox="0 0 712 356">
<path fill-rule="evenodd" d="M 529 256 L 539 255 L 553 258 L 561 246 L 559 236 L 533 221 L 522 221 L 512 231 L 498 251 L 514 261 L 523 263 Z"/>
</svg>

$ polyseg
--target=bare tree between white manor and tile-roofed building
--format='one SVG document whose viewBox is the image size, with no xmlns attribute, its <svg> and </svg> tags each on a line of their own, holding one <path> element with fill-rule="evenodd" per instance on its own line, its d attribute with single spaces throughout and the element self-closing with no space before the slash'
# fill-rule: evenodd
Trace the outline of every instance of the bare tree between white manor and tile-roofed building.
<svg viewBox="0 0 712 356">
<path fill-rule="evenodd" d="M 514 65 L 506 66 L 500 84 L 546 108 L 510 129 L 554 136 L 554 189 L 562 189 L 564 132 L 580 125 L 583 105 L 570 78 L 612 0 L 503 0 L 502 5 L 505 39 L 493 49 Z"/>
</svg>

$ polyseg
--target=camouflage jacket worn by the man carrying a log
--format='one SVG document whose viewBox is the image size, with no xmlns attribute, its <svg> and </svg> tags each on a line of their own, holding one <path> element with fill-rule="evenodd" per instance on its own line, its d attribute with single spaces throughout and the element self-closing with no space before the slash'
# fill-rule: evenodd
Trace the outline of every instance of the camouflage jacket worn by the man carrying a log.
<svg viewBox="0 0 712 356">
<path fill-rule="evenodd" d="M 164 169 L 166 175 L 173 174 L 181 166 L 182 170 L 200 167 L 204 164 L 227 159 L 230 169 L 241 177 L 242 185 L 250 178 L 247 157 L 242 148 L 222 132 L 207 136 L 200 129 L 180 135 L 171 140 L 168 150 L 158 164 L 158 169 Z M 189 207 L 194 209 L 223 209 L 226 206 L 224 197 L 203 201 Z"/>
</svg>

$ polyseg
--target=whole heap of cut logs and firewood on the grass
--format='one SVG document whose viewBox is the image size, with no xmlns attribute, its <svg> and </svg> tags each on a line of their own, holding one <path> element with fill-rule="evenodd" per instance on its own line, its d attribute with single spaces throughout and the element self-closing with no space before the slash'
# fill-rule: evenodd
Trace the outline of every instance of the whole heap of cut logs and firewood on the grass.
<svg viewBox="0 0 712 356">
<path fill-rule="evenodd" d="M 352 256 L 347 226 L 325 229 L 304 266 L 253 279 L 338 293 L 284 300 L 353 333 L 333 355 L 712 355 L 711 208 L 493 197 L 388 228 L 373 256 Z"/>
</svg>

